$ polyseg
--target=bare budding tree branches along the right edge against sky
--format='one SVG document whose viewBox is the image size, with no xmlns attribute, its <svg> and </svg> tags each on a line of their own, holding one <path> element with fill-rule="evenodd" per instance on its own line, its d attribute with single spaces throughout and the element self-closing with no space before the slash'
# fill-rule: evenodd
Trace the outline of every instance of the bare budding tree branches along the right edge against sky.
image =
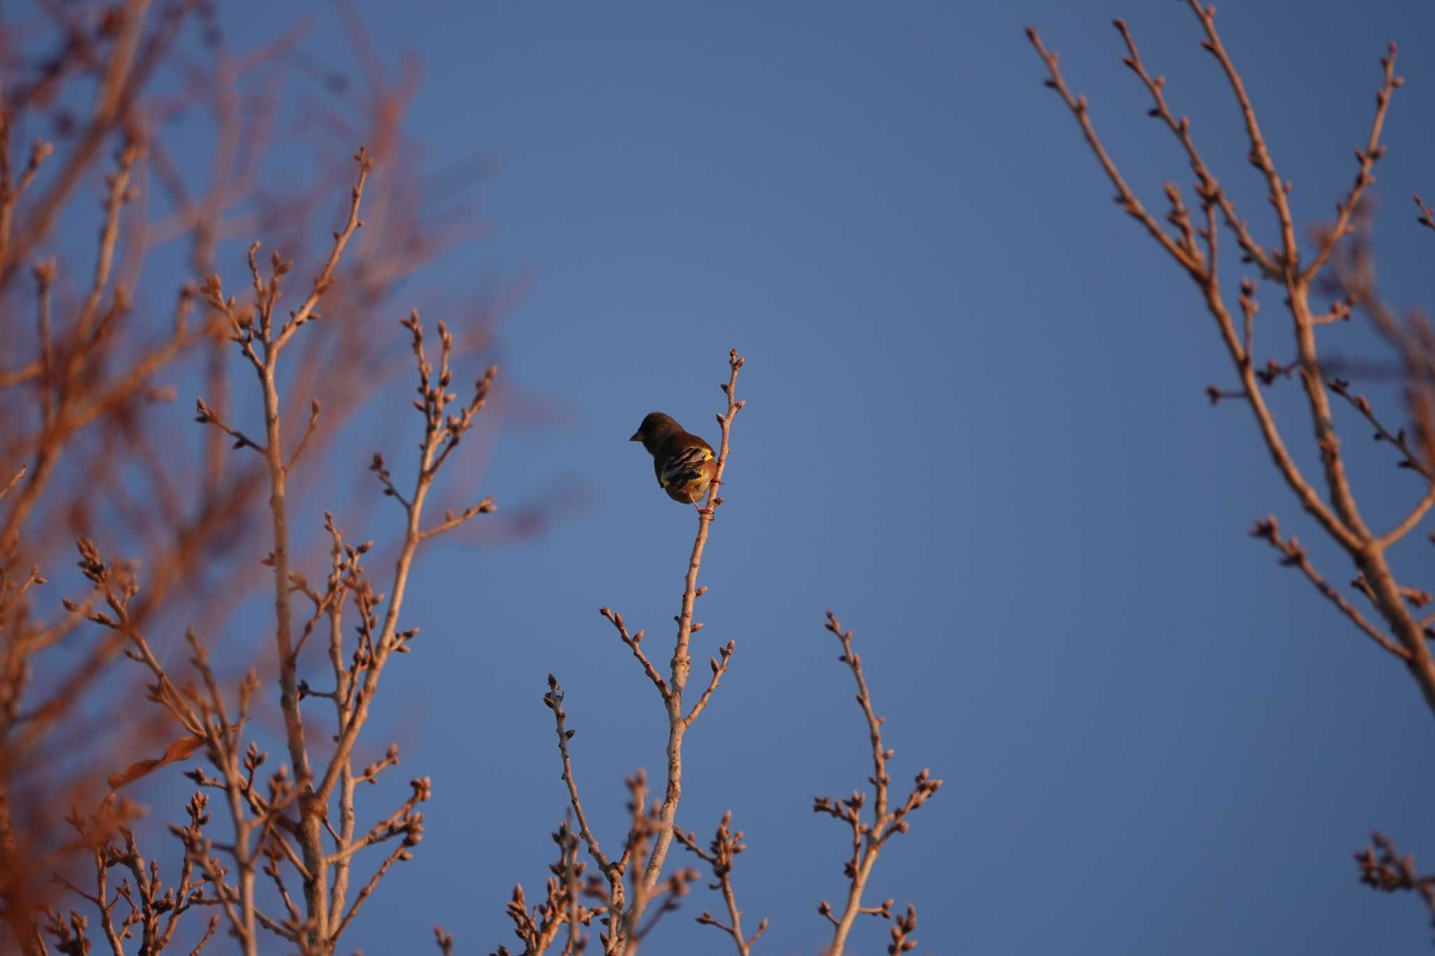
<svg viewBox="0 0 1435 956">
<path fill-rule="evenodd" d="M 1168 211 L 1162 219 L 1147 209 L 1126 183 L 1115 159 L 1106 152 L 1092 123 L 1091 109 L 1083 96 L 1066 86 L 1058 66 L 1056 53 L 1048 50 L 1036 30 L 1027 29 L 1027 39 L 1046 64 L 1046 85 L 1062 99 L 1076 119 L 1088 146 L 1096 155 L 1108 181 L 1116 189 L 1116 204 L 1132 216 L 1148 236 L 1191 279 L 1205 305 L 1231 360 L 1236 386 L 1211 386 L 1207 394 L 1213 404 L 1236 401 L 1251 411 L 1271 463 L 1284 479 L 1296 503 L 1314 525 L 1349 556 L 1355 570 L 1352 595 L 1343 593 L 1316 569 L 1306 549 L 1294 536 L 1283 533 L 1274 516 L 1256 522 L 1251 536 L 1269 543 L 1280 562 L 1300 573 L 1329 601 L 1336 612 L 1382 654 L 1401 662 L 1415 681 L 1426 705 L 1435 712 L 1435 658 L 1429 639 L 1432 616 L 1422 609 L 1431 602 L 1429 593 L 1409 583 L 1408 573 L 1398 573 L 1391 549 L 1415 532 L 1435 505 L 1435 427 L 1432 427 L 1432 386 L 1435 386 L 1435 337 L 1419 315 L 1401 321 L 1382 301 L 1375 284 L 1369 254 L 1369 205 L 1366 192 L 1375 182 L 1375 166 L 1385 155 L 1380 133 L 1401 77 L 1395 73 L 1396 49 L 1392 43 L 1380 59 L 1380 82 L 1376 89 L 1375 116 L 1369 133 L 1356 146 L 1356 175 L 1350 188 L 1336 202 L 1336 218 L 1314 229 L 1313 244 L 1303 251 L 1297 241 L 1297 226 L 1290 205 L 1292 183 L 1286 181 L 1271 158 L 1261 135 L 1257 112 L 1240 70 L 1231 60 L 1215 29 L 1215 7 L 1200 0 L 1187 0 L 1200 24 L 1201 47 L 1215 60 L 1230 86 L 1246 128 L 1250 145 L 1248 159 L 1266 183 L 1267 199 L 1274 214 L 1277 239 L 1263 242 L 1236 209 L 1230 193 L 1220 185 L 1195 145 L 1191 122 L 1178 116 L 1167 100 L 1165 77 L 1152 75 L 1137 49 L 1131 30 L 1122 20 L 1115 21 L 1125 46 L 1125 63 L 1151 96 L 1148 115 L 1178 142 L 1194 176 L 1195 206 L 1188 206 L 1182 189 L 1168 182 L 1165 201 Z M 1419 221 L 1435 228 L 1435 218 L 1425 204 L 1415 198 Z M 1221 285 L 1220 238 L 1234 239 L 1240 262 L 1248 272 L 1240 282 L 1234 305 Z M 1257 294 L 1261 284 L 1277 290 L 1286 315 L 1294 331 L 1296 355 L 1287 363 L 1256 360 L 1256 317 L 1260 308 Z M 1317 305 L 1313 300 L 1326 300 Z M 1409 427 L 1391 427 L 1363 396 L 1352 390 L 1347 378 L 1319 348 L 1319 331 L 1332 322 L 1347 320 L 1353 311 L 1365 312 L 1393 345 L 1405 384 L 1405 414 Z M 1302 470 L 1290 449 L 1290 434 L 1283 433 L 1267 404 L 1263 388 L 1294 376 L 1304 397 L 1309 427 L 1320 457 L 1319 477 Z M 1396 451 L 1395 464 L 1418 474 L 1422 490 L 1405 517 L 1392 527 L 1370 527 L 1360 512 L 1360 496 L 1347 469 L 1347 454 L 1342 450 L 1342 424 L 1335 400 L 1349 404 L 1360 427 L 1375 430 L 1376 440 L 1389 443 Z M 1372 616 L 1373 615 L 1373 616 Z M 1409 857 L 1401 857 L 1393 844 L 1375 834 L 1373 846 L 1356 856 L 1363 883 L 1380 890 L 1412 890 L 1435 916 L 1435 877 L 1421 877 Z"/>
</svg>

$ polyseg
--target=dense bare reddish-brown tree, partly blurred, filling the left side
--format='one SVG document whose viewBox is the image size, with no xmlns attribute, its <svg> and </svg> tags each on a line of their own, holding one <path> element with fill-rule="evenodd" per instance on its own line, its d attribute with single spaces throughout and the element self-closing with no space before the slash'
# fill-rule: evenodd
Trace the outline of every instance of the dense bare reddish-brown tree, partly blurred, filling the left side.
<svg viewBox="0 0 1435 956">
<path fill-rule="evenodd" d="M 406 519 L 377 586 L 363 565 L 372 542 L 349 543 L 336 519 L 317 520 L 306 489 L 329 439 L 399 367 L 375 327 L 396 282 L 452 239 L 415 202 L 422 183 L 399 135 L 412 77 L 373 73 L 363 96 L 303 107 L 327 120 L 326 136 L 340 129 L 373 145 L 354 156 L 356 175 L 343 171 L 352 183 L 343 218 L 310 257 L 311 232 L 327 219 L 321 198 L 339 192 L 327 140 L 314 143 L 317 183 L 296 183 L 296 195 L 258 186 L 276 77 L 296 37 L 237 54 L 199 4 L 154 6 L 42 4 L 39 23 L 3 32 L 26 36 L 27 49 L 49 34 L 53 53 L 39 63 L 7 56 L 0 75 L 0 302 L 10 318 L 0 337 L 0 936 L 27 953 L 89 952 L 96 933 L 115 953 L 198 952 L 222 927 L 250 953 L 268 949 L 263 935 L 329 953 L 423 836 L 423 777 L 408 800 L 360 826 L 360 784 L 399 752 L 390 745 L 363 765 L 356 742 L 386 664 L 413 646 L 416 628 L 402 628 L 399 615 L 420 545 L 494 510 L 488 499 L 442 519 L 425 510 L 494 370 L 471 378 L 459 400 L 456 363 L 482 345 L 482 325 L 456 341 L 439 324 L 435 358 L 418 314 L 403 320 L 422 443 L 412 479 L 390 476 L 382 456 L 370 466 L 376 492 Z M 356 21 L 349 27 L 366 43 Z M 191 29 L 208 53 L 202 67 L 177 56 Z M 149 92 L 166 70 L 185 72 L 184 93 Z M 77 119 L 86 90 L 90 112 Z M 171 138 L 177 118 L 194 110 L 214 120 L 212 163 L 198 183 L 175 162 Z M 36 140 L 11 162 L 26 129 L 57 130 L 60 142 Z M 102 175 L 92 268 L 50 258 L 62 214 L 88 205 Z M 382 241 L 363 238 L 360 216 L 382 225 Z M 276 252 L 264 264 L 257 242 L 250 291 L 224 291 L 227 239 L 255 232 L 316 259 L 303 267 L 311 282 L 291 310 L 280 301 L 294 261 Z M 149 252 L 175 241 L 187 241 L 192 271 L 149 278 Z M 156 322 L 149 290 L 166 285 L 174 307 Z M 33 315 L 29 334 L 22 314 Z M 231 355 L 254 373 L 257 400 L 231 383 Z M 174 381 L 199 396 L 204 431 L 192 443 L 166 440 L 161 424 L 178 397 Z M 250 520 L 255 513 L 267 522 Z M 296 525 L 329 540 L 326 569 L 313 576 L 321 585 L 300 569 L 309 560 L 300 542 L 311 535 Z M 77 573 L 65 572 L 65 548 L 77 550 Z M 220 664 L 210 632 L 264 588 L 253 569 L 268 575 L 270 649 Z M 53 593 L 50 576 L 69 596 Z M 195 622 L 188 661 L 174 666 L 164 648 L 184 621 Z M 303 677 L 300 654 L 316 634 L 331 687 Z M 261 674 L 277 678 L 287 751 L 267 778 L 254 732 L 273 705 Z M 329 720 L 316 747 L 314 724 Z M 165 851 L 142 851 L 138 804 L 125 794 L 168 764 L 199 758 L 187 771 L 199 790 L 171 827 L 177 864 L 162 873 Z M 211 836 L 214 794 L 227 837 Z M 65 913 L 60 892 L 88 903 Z M 191 910 L 205 916 L 187 930 Z"/>
</svg>

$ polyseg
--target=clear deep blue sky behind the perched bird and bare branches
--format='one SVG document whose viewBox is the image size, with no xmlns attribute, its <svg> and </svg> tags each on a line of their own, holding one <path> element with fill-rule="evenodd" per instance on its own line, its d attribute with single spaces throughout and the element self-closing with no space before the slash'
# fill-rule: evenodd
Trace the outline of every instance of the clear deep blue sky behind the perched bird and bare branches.
<svg viewBox="0 0 1435 956">
<path fill-rule="evenodd" d="M 621 840 L 623 775 L 662 771 L 662 709 L 596 612 L 621 611 L 656 646 L 695 526 L 626 439 L 664 410 L 716 440 L 733 345 L 749 406 L 696 656 L 728 639 L 738 655 L 689 735 L 679 820 L 707 834 L 733 810 L 749 843 L 739 900 L 751 924 L 771 919 L 759 952 L 825 940 L 817 903 L 844 893 L 847 837 L 811 798 L 868 773 L 828 608 L 857 631 L 895 778 L 930 767 L 946 780 L 870 889 L 918 907 L 920 952 L 1428 945 L 1416 902 L 1358 886 L 1350 853 L 1380 827 L 1435 860 L 1431 715 L 1392 661 L 1246 537 L 1274 512 L 1332 580 L 1350 575 L 1248 414 L 1207 403 L 1208 383 L 1233 380 L 1210 318 L 1112 205 L 1022 36 L 1033 24 L 1062 52 L 1157 205 L 1162 179 L 1190 175 L 1119 63 L 1109 20 L 1125 16 L 1270 238 L 1238 113 L 1184 6 L 356 9 L 386 63 L 420 62 L 406 129 L 423 163 L 492 159 L 471 191 L 489 235 L 415 295 L 531 277 L 497 348 L 504 380 L 552 421 L 505 426 L 475 490 L 563 507 L 540 535 L 455 537 L 422 563 L 406 613 L 420 652 L 386 672 L 367 740 L 376 752 L 397 740 L 403 777 L 432 775 L 435 800 L 416 859 L 352 945 L 413 952 L 435 922 L 461 952 L 511 940 L 504 903 L 515 881 L 540 892 L 567 806 L 548 671 L 568 694 L 600 837 Z M 221 19 L 243 49 L 293 14 L 265 1 Z M 1422 46 L 1435 17 L 1391 0 L 1263 1 L 1223 9 L 1220 24 L 1303 224 L 1349 185 L 1376 60 L 1402 42 L 1379 255 L 1392 301 L 1428 302 L 1435 236 L 1408 204 L 1435 192 Z M 353 64 L 330 9 L 298 50 Z M 1284 360 L 1274 294 L 1264 307 L 1260 357 Z M 1326 343 L 1373 348 L 1355 324 Z M 1309 463 L 1296 398 L 1286 386 L 1273 401 Z M 1388 520 L 1419 489 L 1343 424 L 1368 509 Z M 1419 545 L 1401 555 L 1416 583 Z M 231 638 L 265 626 L 240 619 Z M 387 811 L 387 793 L 360 823 Z M 723 952 L 692 923 L 716 906 L 699 890 L 651 950 Z M 885 926 L 860 926 L 855 952 L 883 946 Z"/>
</svg>

